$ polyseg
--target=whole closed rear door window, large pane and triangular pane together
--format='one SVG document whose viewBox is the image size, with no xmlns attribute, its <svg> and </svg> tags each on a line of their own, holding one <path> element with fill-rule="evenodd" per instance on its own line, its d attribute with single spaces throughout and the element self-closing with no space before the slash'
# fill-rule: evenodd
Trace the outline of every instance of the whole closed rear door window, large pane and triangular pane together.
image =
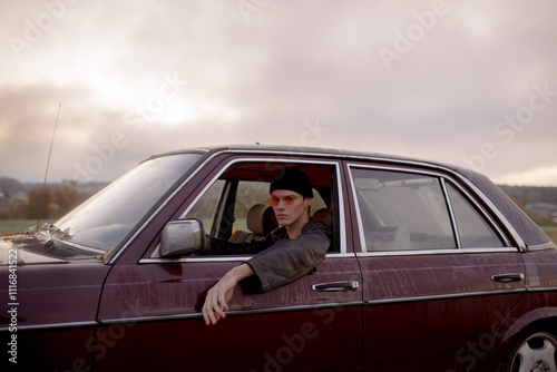
<svg viewBox="0 0 557 372">
<path fill-rule="evenodd" d="M 384 169 L 352 168 L 351 174 L 363 252 L 505 246 L 475 204 L 450 182 Z"/>
</svg>

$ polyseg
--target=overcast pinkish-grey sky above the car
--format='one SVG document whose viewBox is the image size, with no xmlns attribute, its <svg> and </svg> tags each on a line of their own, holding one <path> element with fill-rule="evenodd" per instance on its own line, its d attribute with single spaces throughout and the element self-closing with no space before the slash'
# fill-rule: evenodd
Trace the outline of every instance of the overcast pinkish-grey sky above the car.
<svg viewBox="0 0 557 372">
<path fill-rule="evenodd" d="M 557 186 L 557 2 L 1 1 L 0 176 L 113 180 L 226 144 Z M 61 105 L 61 106 L 60 106 Z"/>
</svg>

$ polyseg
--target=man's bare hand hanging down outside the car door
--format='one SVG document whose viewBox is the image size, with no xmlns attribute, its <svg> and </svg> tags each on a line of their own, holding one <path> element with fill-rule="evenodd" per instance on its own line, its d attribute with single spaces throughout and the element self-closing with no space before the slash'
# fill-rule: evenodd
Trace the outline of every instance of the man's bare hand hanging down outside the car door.
<svg viewBox="0 0 557 372">
<path fill-rule="evenodd" d="M 216 324 L 222 317 L 226 317 L 228 301 L 232 298 L 236 284 L 248 276 L 255 275 L 246 264 L 242 264 L 228 271 L 208 292 L 203 305 L 203 319 L 205 324 Z"/>
</svg>

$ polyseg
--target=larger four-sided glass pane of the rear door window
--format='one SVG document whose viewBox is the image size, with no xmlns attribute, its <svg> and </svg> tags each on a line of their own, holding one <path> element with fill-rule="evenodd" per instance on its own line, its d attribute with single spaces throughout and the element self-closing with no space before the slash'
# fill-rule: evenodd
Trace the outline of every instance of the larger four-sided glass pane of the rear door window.
<svg viewBox="0 0 557 372">
<path fill-rule="evenodd" d="M 364 252 L 456 248 L 437 177 L 364 168 L 352 177 Z"/>
</svg>

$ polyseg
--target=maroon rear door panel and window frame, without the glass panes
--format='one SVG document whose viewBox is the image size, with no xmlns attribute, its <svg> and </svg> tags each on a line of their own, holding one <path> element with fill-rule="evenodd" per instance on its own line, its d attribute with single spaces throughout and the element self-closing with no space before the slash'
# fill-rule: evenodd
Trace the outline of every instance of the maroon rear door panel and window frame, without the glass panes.
<svg viewBox="0 0 557 372">
<path fill-rule="evenodd" d="M 354 216 L 355 226 L 353 231 L 354 249 L 362 267 L 364 285 L 365 369 L 381 368 L 387 371 L 395 371 L 412 370 L 419 366 L 429 371 L 460 371 L 477 366 L 489 351 L 502 342 L 502 335 L 499 337 L 498 330 L 526 292 L 525 267 L 521 257 L 524 242 L 520 238 L 518 242 L 515 239 L 518 236 L 516 232 L 507 233 L 514 231 L 508 221 L 500 218 L 502 215 L 497 212 L 495 215 L 488 213 L 483 205 L 490 205 L 490 202 L 481 198 L 481 203 L 478 203 L 477 193 L 479 190 L 459 177 L 457 173 L 404 161 L 378 164 L 346 160 L 344 166 L 352 189 L 351 214 Z M 355 185 L 351 174 L 352 168 L 409 172 L 439 177 L 442 179 L 441 184 L 450 182 L 465 193 L 469 202 L 476 203 L 475 207 L 481 212 L 506 246 L 501 248 L 365 252 L 362 241 L 363 224 L 360 218 Z M 447 198 L 444 187 L 443 194 Z M 490 205 L 490 207 L 494 206 Z M 449 214 L 453 232 L 458 231 L 450 205 Z M 439 282 L 447 268 L 458 270 L 459 265 L 471 268 L 475 265 L 482 265 L 481 258 L 478 260 L 478 257 L 487 261 L 495 260 L 506 267 L 498 267 L 495 264 L 481 266 L 480 272 L 481 275 L 485 275 L 483 280 L 468 288 L 450 281 Z M 399 267 L 400 271 L 392 267 Z M 522 280 L 511 283 L 500 283 L 492 280 L 492 276 L 506 273 L 507 270 L 521 275 Z M 413 284 L 414 287 L 418 287 L 418 294 L 412 293 L 408 287 L 404 290 L 403 286 L 397 285 L 397 281 L 399 284 Z M 419 291 L 428 291 L 433 286 L 437 286 L 437 291 L 419 293 Z M 489 302 L 489 295 L 506 296 L 507 301 L 501 301 L 504 305 L 499 306 L 500 309 L 491 309 L 486 315 L 480 309 L 487 307 L 486 302 Z M 473 319 L 462 311 L 467 306 L 472 309 L 470 314 L 473 314 Z M 449 315 L 442 310 L 450 312 Z M 448 319 L 442 321 L 442 316 Z M 455 332 L 462 329 L 458 325 L 455 327 L 455 324 L 451 323 L 458 319 L 467 321 L 461 325 L 467 326 L 468 330 L 462 335 L 451 340 L 448 335 L 455 335 Z M 439 325 L 436 327 L 436 322 L 439 321 L 443 326 L 441 329 L 438 329 Z M 417 334 L 421 334 L 421 336 L 416 337 Z M 432 339 L 432 342 L 437 343 L 433 347 L 442 350 L 437 353 L 432 352 L 432 346 L 428 345 L 428 339 Z M 442 342 L 442 340 L 447 340 L 447 342 Z M 430 360 L 427 356 L 430 356 Z"/>
</svg>

